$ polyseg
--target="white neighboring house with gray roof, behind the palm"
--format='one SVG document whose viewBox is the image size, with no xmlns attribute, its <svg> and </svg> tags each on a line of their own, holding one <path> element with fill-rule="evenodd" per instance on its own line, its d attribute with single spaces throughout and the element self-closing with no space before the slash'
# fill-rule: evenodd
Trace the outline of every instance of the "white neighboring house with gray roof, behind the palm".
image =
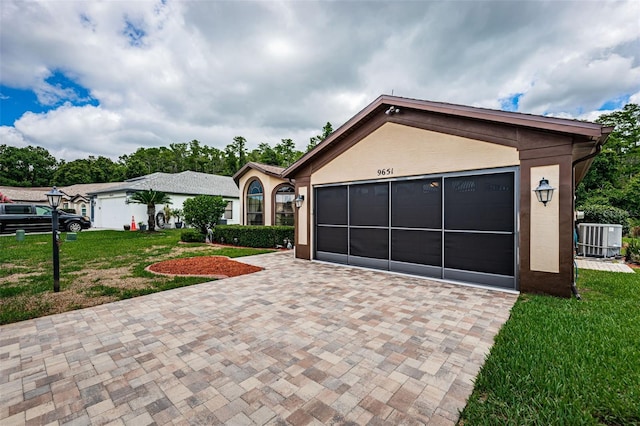
<svg viewBox="0 0 640 426">
<path fill-rule="evenodd" d="M 130 202 L 137 191 L 153 189 L 171 197 L 169 207 L 182 209 L 184 201 L 196 195 L 219 195 L 227 201 L 223 216 L 227 224 L 238 224 L 240 215 L 240 192 L 233 178 L 208 173 L 185 171 L 181 173 L 152 173 L 120 182 L 119 185 L 89 192 L 91 197 L 91 221 L 95 228 L 123 229 L 132 220 L 147 223 L 147 206 Z M 164 204 L 156 205 L 156 214 L 162 212 Z M 170 220 L 173 226 L 175 218 Z"/>
</svg>

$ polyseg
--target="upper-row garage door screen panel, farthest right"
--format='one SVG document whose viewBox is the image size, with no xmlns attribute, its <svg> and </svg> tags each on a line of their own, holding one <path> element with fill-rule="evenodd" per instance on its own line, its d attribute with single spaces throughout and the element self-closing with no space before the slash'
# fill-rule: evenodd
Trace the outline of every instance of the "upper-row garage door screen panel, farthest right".
<svg viewBox="0 0 640 426">
<path fill-rule="evenodd" d="M 514 230 L 513 173 L 445 179 L 445 229 Z"/>
</svg>

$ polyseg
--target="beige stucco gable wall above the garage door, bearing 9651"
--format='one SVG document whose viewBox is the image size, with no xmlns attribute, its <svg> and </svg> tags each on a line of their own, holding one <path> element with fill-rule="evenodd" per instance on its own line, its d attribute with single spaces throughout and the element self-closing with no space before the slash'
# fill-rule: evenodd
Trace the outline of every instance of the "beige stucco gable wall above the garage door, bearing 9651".
<svg viewBox="0 0 640 426">
<path fill-rule="evenodd" d="M 311 175 L 311 184 L 520 164 L 516 148 L 385 123 Z M 380 172 L 380 174 L 379 174 Z M 384 174 L 381 174 L 381 173 Z"/>
</svg>

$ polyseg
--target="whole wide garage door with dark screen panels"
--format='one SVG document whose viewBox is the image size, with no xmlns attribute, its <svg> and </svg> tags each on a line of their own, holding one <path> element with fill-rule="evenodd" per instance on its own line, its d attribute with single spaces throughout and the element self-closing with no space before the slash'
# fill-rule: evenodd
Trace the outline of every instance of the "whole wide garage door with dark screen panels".
<svg viewBox="0 0 640 426">
<path fill-rule="evenodd" d="M 315 188 L 315 258 L 516 288 L 516 171 Z"/>
</svg>

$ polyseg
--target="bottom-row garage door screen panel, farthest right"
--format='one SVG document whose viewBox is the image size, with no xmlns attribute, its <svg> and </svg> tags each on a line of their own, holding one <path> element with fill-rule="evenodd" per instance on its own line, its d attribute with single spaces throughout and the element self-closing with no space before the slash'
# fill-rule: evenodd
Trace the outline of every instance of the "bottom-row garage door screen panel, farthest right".
<svg viewBox="0 0 640 426">
<path fill-rule="evenodd" d="M 445 268 L 514 275 L 513 235 L 446 233 Z"/>
</svg>

